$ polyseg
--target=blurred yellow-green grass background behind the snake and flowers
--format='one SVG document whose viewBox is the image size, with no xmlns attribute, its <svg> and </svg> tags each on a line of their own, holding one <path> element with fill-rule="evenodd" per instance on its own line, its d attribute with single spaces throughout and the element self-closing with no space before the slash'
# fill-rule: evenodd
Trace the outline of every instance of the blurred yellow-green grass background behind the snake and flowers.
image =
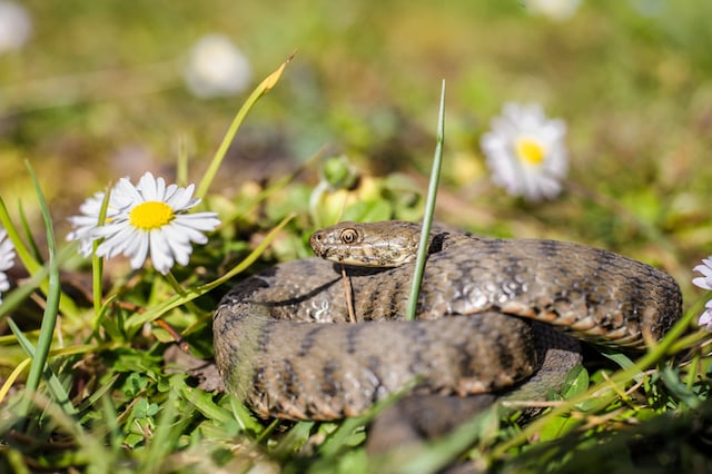
<svg viewBox="0 0 712 474">
<path fill-rule="evenodd" d="M 170 178 L 181 144 L 199 180 L 249 90 L 296 51 L 214 192 L 284 176 L 325 146 L 373 174 L 425 182 L 445 79 L 444 218 L 594 243 L 679 279 L 710 251 L 708 0 L 584 0 L 564 19 L 514 0 L 22 4 L 32 36 L 0 55 L 0 195 L 36 206 L 29 159 L 60 229 L 108 182 L 145 170 Z M 209 33 L 247 57 L 247 91 L 201 99 L 186 89 L 188 52 Z M 570 190 L 554 201 L 526 205 L 488 180 L 479 136 L 512 100 L 567 124 Z"/>
</svg>

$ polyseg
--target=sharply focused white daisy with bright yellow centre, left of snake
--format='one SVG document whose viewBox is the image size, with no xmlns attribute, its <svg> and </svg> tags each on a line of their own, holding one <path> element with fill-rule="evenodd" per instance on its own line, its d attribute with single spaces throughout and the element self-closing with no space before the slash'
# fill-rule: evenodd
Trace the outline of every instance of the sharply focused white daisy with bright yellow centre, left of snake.
<svg viewBox="0 0 712 474">
<path fill-rule="evenodd" d="M 109 223 L 91 235 L 105 240 L 97 248 L 100 257 L 123 254 L 132 268 L 140 268 L 150 253 L 154 267 L 166 275 L 175 263 L 187 265 L 191 243 L 205 244 L 204 231 L 220 224 L 216 213 L 186 214 L 200 199 L 194 198 L 195 186 L 166 186 L 164 178 L 146 172 L 134 186 L 128 178 L 117 182 L 111 200 L 123 205 Z"/>
</svg>

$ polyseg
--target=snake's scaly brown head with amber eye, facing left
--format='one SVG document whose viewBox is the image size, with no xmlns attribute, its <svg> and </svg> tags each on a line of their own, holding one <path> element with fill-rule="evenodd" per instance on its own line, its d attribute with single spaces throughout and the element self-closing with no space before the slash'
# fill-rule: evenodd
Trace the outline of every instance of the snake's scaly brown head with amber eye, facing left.
<svg viewBox="0 0 712 474">
<path fill-rule="evenodd" d="M 402 220 L 340 223 L 312 234 L 314 253 L 329 261 L 397 267 L 415 260 L 421 225 Z"/>
</svg>

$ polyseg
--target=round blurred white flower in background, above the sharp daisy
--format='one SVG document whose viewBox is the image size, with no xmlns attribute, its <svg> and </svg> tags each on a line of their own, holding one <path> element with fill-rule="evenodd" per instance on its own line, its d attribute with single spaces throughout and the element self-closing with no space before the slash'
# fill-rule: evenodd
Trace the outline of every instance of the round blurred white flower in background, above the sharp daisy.
<svg viewBox="0 0 712 474">
<path fill-rule="evenodd" d="M 199 39 L 190 51 L 185 70 L 188 89 L 200 98 L 243 92 L 251 77 L 245 55 L 221 34 L 208 34 Z"/>
</svg>

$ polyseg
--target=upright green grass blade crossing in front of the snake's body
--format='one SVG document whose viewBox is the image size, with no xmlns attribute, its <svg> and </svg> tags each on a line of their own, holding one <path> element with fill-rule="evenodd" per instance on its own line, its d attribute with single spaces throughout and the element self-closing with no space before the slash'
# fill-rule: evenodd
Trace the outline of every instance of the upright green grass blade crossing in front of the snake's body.
<svg viewBox="0 0 712 474">
<path fill-rule="evenodd" d="M 445 81 L 441 89 L 441 108 L 437 118 L 437 145 L 435 146 L 435 157 L 433 158 L 433 169 L 431 170 L 431 182 L 427 187 L 427 200 L 425 204 L 425 215 L 423 216 L 423 228 L 421 229 L 421 241 L 418 244 L 418 255 L 415 260 L 415 271 L 411 285 L 411 295 L 408 296 L 408 306 L 406 308 L 405 318 L 407 320 L 415 319 L 415 310 L 418 303 L 418 293 L 421 292 L 421 283 L 423 282 L 423 271 L 425 270 L 425 259 L 427 258 L 427 243 L 433 225 L 433 216 L 435 214 L 435 198 L 437 197 L 437 184 L 441 179 L 441 168 L 443 165 L 443 144 L 445 142 Z"/>
</svg>

